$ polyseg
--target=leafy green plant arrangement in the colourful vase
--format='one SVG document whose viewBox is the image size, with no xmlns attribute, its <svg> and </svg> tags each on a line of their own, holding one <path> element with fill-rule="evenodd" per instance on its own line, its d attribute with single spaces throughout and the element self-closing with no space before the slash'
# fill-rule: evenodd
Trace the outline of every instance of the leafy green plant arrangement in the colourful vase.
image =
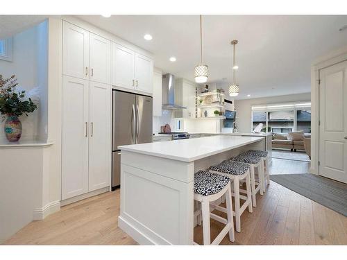
<svg viewBox="0 0 347 260">
<path fill-rule="evenodd" d="M 37 110 L 31 98 L 25 98 L 25 90 L 17 91 L 17 78 L 3 78 L 0 74 L 0 112 L 7 116 L 21 116 Z"/>
</svg>

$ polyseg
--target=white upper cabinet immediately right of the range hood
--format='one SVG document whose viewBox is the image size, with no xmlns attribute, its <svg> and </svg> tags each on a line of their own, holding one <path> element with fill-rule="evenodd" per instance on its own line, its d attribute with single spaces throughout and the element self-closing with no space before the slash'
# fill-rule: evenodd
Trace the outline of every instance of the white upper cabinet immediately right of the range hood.
<svg viewBox="0 0 347 260">
<path fill-rule="evenodd" d="M 197 85 L 178 78 L 175 82 L 175 103 L 183 107 L 187 107 L 183 110 L 177 110 L 175 116 L 178 118 L 195 119 L 196 109 L 196 87 Z"/>
</svg>

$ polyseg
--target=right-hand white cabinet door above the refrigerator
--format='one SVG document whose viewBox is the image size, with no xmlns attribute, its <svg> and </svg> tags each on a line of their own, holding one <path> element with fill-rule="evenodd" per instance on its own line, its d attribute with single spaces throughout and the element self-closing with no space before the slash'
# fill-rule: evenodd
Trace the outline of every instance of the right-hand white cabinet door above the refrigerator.
<svg viewBox="0 0 347 260">
<path fill-rule="evenodd" d="M 153 60 L 139 53 L 135 55 L 135 79 L 135 89 L 153 93 Z"/>
</svg>

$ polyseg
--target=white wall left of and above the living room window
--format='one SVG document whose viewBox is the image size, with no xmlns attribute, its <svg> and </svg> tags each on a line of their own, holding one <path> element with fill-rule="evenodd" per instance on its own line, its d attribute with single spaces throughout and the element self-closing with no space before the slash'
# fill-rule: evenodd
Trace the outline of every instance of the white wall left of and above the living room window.
<svg viewBox="0 0 347 260">
<path fill-rule="evenodd" d="M 236 100 L 235 110 L 236 110 L 237 130 L 239 132 L 251 132 L 252 105 L 264 105 L 264 104 L 271 104 L 271 103 L 310 101 L 310 100 L 311 100 L 311 93 Z"/>
</svg>

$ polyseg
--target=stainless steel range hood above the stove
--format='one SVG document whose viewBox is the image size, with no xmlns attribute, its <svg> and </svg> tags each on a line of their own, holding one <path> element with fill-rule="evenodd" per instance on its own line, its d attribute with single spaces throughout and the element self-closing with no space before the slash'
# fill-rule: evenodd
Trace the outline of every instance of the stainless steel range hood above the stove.
<svg viewBox="0 0 347 260">
<path fill-rule="evenodd" d="M 162 76 L 162 109 L 182 110 L 182 107 L 175 104 L 175 76 L 167 73 Z"/>
</svg>

